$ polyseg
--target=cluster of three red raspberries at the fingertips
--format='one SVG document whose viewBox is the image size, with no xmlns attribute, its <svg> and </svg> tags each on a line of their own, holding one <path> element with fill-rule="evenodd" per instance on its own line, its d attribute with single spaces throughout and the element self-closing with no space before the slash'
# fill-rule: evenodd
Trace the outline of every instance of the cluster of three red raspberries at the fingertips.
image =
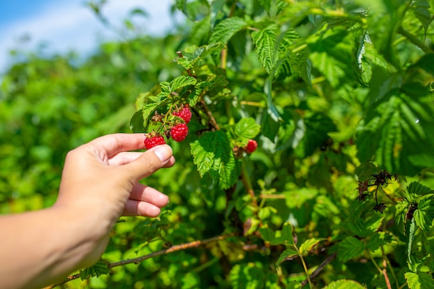
<svg viewBox="0 0 434 289">
<path fill-rule="evenodd" d="M 160 115 L 157 113 L 155 113 L 153 121 L 163 123 L 164 134 L 167 138 L 171 137 L 174 141 L 184 141 L 184 139 L 187 137 L 187 134 L 189 134 L 189 127 L 187 126 L 187 123 L 191 121 L 190 107 L 189 105 L 182 105 L 180 109 L 177 109 L 172 114 L 173 116 L 177 116 L 175 118 L 175 121 L 165 123 L 166 118 L 164 117 L 164 114 Z M 145 148 L 149 150 L 154 146 L 159 146 L 166 143 L 166 141 L 161 134 L 157 132 L 151 132 L 150 134 L 146 134 L 146 139 L 144 143 Z"/>
</svg>

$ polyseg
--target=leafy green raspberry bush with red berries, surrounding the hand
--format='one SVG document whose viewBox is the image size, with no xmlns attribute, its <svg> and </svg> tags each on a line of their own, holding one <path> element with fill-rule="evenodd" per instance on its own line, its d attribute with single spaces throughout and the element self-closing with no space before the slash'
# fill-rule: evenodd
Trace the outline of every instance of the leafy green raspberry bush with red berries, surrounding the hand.
<svg viewBox="0 0 434 289">
<path fill-rule="evenodd" d="M 103 259 L 65 286 L 434 288 L 433 6 L 177 0 L 186 23 L 175 34 L 106 44 L 92 60 L 101 71 L 85 74 L 96 68 L 89 62 L 76 73 L 60 60 L 16 67 L 1 86 L 12 91 L 1 103 L 0 117 L 11 118 L 1 139 L 17 132 L 35 142 L 14 153 L 3 143 L 17 163 L 26 163 L 24 151 L 40 152 L 32 163 L 43 159 L 37 141 L 51 148 L 71 135 L 72 145 L 95 130 L 121 130 L 114 119 L 129 120 L 145 142 L 170 144 L 177 159 L 144 180 L 170 196 L 162 215 L 120 220 Z M 65 71 L 68 81 L 58 80 Z M 58 86 L 23 87 L 43 76 Z M 116 83 L 125 86 L 94 76 L 123 77 Z M 34 116 L 33 103 L 24 114 L 23 91 L 73 97 L 55 122 L 42 106 Z M 104 98 L 81 101 L 83 91 Z M 126 108 L 113 113 L 121 95 Z M 110 110 L 92 119 L 98 107 Z M 83 129 L 72 129 L 76 111 Z M 60 127 L 31 134 L 20 121 Z M 62 159 L 58 151 L 46 155 Z M 50 176 L 42 164 L 27 177 L 8 162 L 0 167 L 0 187 L 10 192 L 16 179 Z"/>
</svg>

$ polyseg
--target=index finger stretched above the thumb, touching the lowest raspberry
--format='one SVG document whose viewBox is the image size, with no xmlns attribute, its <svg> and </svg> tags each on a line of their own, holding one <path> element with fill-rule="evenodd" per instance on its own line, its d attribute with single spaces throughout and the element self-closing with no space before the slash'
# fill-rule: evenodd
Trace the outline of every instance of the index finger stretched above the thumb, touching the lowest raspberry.
<svg viewBox="0 0 434 289">
<path fill-rule="evenodd" d="M 107 157 L 113 157 L 118 152 L 142 150 L 145 148 L 144 134 L 107 134 L 98 137 L 88 144 L 94 146 L 99 152 L 105 152 Z"/>
</svg>

